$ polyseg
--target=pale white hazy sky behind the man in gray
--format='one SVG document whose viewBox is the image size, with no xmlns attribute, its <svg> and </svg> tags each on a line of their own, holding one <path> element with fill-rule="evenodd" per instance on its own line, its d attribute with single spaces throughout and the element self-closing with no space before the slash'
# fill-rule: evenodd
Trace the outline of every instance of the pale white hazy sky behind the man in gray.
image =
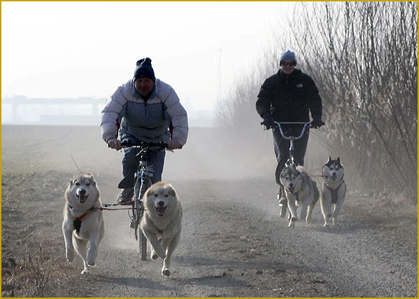
<svg viewBox="0 0 419 299">
<path fill-rule="evenodd" d="M 263 55 L 286 2 L 1 2 L 1 94 L 109 97 L 150 57 L 194 108 Z M 282 51 L 282 49 L 278 49 Z"/>
</svg>

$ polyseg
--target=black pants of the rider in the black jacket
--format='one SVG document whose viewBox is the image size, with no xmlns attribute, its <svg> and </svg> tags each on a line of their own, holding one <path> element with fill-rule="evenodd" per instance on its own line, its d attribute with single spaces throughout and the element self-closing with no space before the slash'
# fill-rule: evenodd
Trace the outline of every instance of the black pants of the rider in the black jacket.
<svg viewBox="0 0 419 299">
<path fill-rule="evenodd" d="M 300 139 L 294 140 L 294 161 L 297 165 L 304 165 L 304 157 L 306 156 L 309 129 L 306 128 L 304 135 Z M 294 126 L 293 128 L 283 128 L 285 136 L 299 136 L 301 134 L 301 127 Z M 290 140 L 285 139 L 280 135 L 278 128 L 272 129 L 274 135 L 274 149 L 278 165 L 276 166 L 275 179 L 278 185 L 280 184 L 280 172 L 285 166 L 285 162 L 290 158 Z"/>
</svg>

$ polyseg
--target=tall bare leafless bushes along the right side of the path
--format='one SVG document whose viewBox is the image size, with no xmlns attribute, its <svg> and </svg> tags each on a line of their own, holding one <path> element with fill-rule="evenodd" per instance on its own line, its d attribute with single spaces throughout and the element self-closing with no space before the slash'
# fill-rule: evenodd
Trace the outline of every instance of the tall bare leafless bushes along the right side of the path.
<svg viewBox="0 0 419 299">
<path fill-rule="evenodd" d="M 409 191 L 406 196 L 415 197 L 417 3 L 299 3 L 288 25 L 278 31 L 259 71 L 244 77 L 228 104 L 219 105 L 229 109 L 222 119 L 230 126 L 245 123 L 263 76 L 277 71 L 281 50 L 292 49 L 322 95 L 324 143 L 345 155 L 360 185 Z"/>
</svg>

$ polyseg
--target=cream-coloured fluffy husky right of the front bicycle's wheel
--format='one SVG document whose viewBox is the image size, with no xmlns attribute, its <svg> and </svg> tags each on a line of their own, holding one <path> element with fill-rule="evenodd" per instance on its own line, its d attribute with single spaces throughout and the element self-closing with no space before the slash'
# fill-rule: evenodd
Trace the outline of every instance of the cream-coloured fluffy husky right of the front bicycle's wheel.
<svg viewBox="0 0 419 299">
<path fill-rule="evenodd" d="M 156 182 L 145 192 L 141 229 L 150 241 L 151 258 L 164 259 L 161 274 L 171 275 L 171 257 L 180 239 L 182 206 L 168 182 Z"/>
</svg>

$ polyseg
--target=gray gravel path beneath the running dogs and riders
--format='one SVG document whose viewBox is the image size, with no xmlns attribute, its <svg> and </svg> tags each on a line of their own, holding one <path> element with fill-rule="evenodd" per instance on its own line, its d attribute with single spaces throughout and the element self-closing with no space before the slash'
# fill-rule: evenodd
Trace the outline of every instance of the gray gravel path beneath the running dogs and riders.
<svg viewBox="0 0 419 299">
<path fill-rule="evenodd" d="M 173 184 L 182 197 L 184 228 L 171 277 L 160 274 L 161 260 L 138 259 L 127 217 L 121 225 L 120 212 L 106 214 L 94 296 L 416 296 L 414 234 L 396 239 L 397 229 L 377 219 L 350 219 L 356 198 L 348 199 L 338 228 L 322 228 L 317 207 L 313 225 L 300 221 L 290 229 L 276 216 L 274 201 L 267 204 L 260 194 L 271 189 L 266 180 Z"/>
</svg>

